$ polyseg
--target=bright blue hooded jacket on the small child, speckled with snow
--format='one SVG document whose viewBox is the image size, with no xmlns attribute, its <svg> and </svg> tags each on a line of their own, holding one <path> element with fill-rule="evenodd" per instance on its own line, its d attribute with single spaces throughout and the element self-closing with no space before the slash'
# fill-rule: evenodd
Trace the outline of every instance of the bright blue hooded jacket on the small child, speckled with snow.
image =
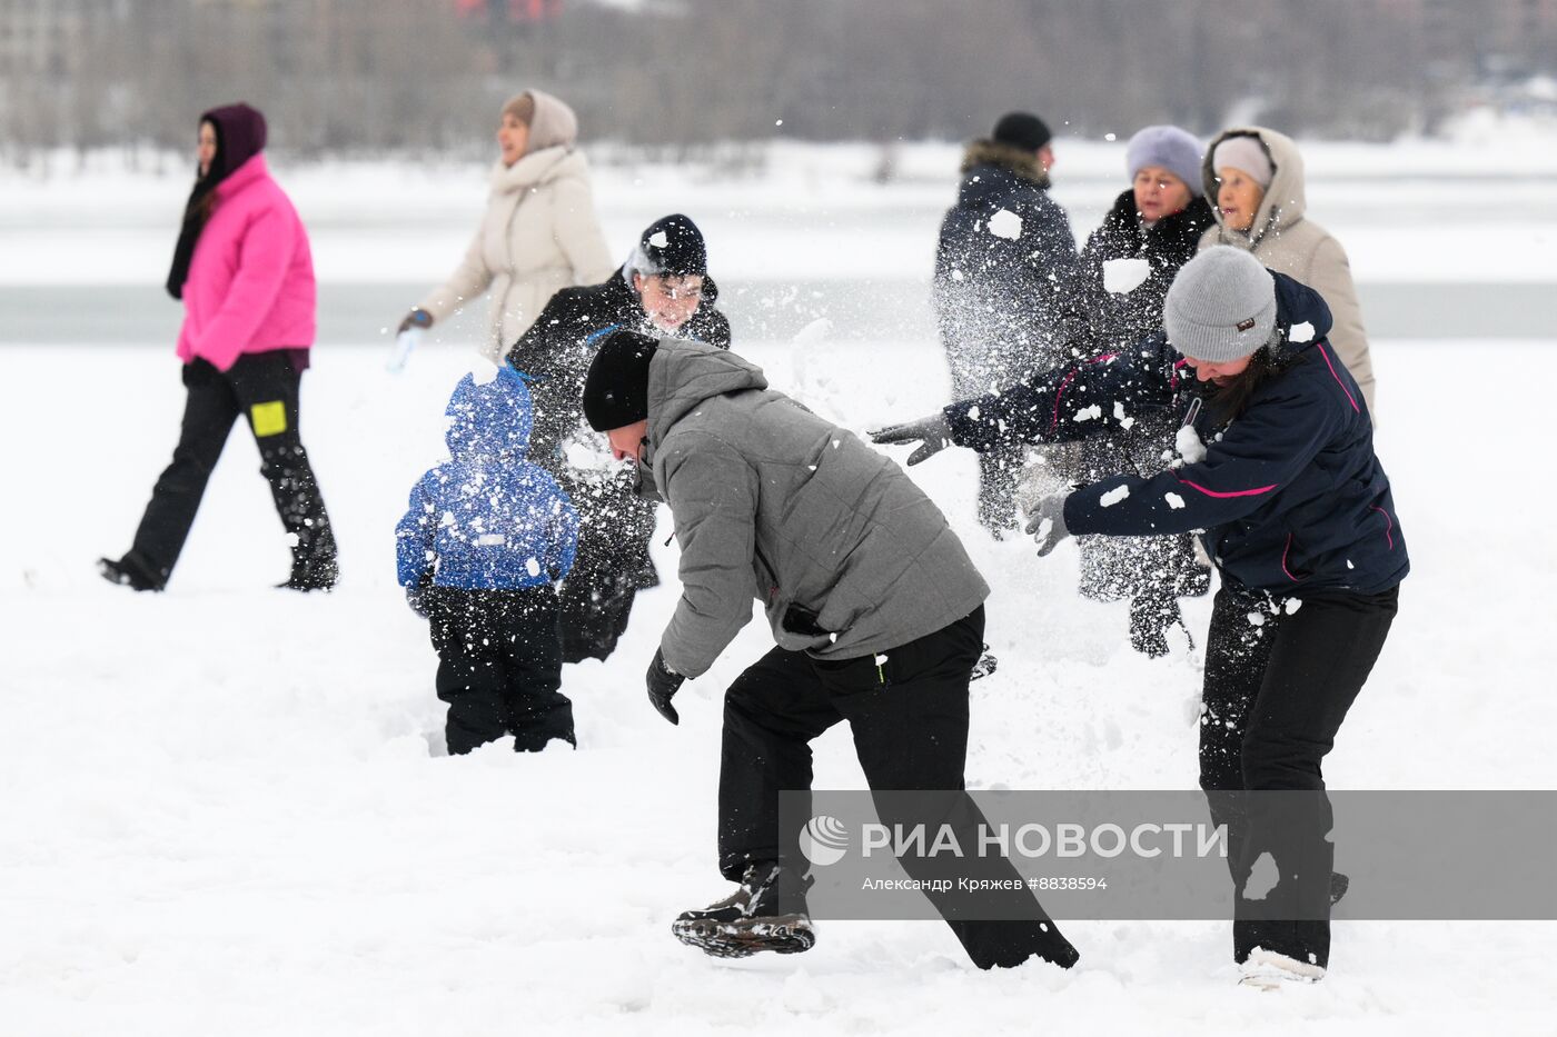
<svg viewBox="0 0 1557 1037">
<path fill-rule="evenodd" d="M 508 364 L 490 381 L 461 378 L 448 400 L 450 461 L 411 490 L 395 526 L 400 584 L 514 590 L 562 579 L 578 548 L 568 495 L 525 459 L 529 389 Z"/>
</svg>

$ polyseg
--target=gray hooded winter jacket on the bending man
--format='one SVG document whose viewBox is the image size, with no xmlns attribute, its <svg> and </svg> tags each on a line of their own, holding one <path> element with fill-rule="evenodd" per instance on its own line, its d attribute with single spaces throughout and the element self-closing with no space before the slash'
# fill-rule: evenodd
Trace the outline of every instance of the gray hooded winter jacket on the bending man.
<svg viewBox="0 0 1557 1037">
<path fill-rule="evenodd" d="M 782 648 L 822 659 L 905 645 L 989 596 L 945 515 L 892 459 L 722 349 L 660 341 L 645 466 L 682 551 L 682 596 L 660 640 L 676 673 L 705 673 L 754 596 Z"/>
</svg>

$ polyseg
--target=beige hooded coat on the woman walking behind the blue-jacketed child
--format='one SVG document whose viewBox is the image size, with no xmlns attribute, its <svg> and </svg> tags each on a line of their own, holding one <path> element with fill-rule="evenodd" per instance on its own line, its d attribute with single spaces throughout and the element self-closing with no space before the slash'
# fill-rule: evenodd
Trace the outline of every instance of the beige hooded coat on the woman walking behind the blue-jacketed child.
<svg viewBox="0 0 1557 1037">
<path fill-rule="evenodd" d="M 573 109 L 540 90 L 529 93 L 536 115 L 525 156 L 492 170 L 486 216 L 464 262 L 419 304 L 441 321 L 490 288 L 481 352 L 494 361 L 553 293 L 599 283 L 617 268 L 595 215 L 589 163 L 573 149 Z"/>
</svg>

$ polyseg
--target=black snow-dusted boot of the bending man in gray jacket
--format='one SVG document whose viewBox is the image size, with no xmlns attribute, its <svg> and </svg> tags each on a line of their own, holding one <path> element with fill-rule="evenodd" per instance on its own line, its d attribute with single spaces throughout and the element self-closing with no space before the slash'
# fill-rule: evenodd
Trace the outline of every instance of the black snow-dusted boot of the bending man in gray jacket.
<svg viewBox="0 0 1557 1037">
<path fill-rule="evenodd" d="M 764 950 L 799 954 L 816 944 L 805 908 L 807 886 L 786 867 L 750 864 L 733 894 L 701 911 L 684 911 L 671 933 L 715 958 L 746 958 Z"/>
</svg>

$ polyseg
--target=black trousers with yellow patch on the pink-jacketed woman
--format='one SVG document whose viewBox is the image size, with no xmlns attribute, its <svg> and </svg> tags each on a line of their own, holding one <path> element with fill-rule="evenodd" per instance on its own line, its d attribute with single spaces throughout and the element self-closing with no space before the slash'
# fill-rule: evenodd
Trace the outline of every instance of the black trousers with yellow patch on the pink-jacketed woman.
<svg viewBox="0 0 1557 1037">
<path fill-rule="evenodd" d="M 132 547 L 149 571 L 163 581 L 173 571 L 240 414 L 260 447 L 260 475 L 269 483 L 282 526 L 296 537 L 294 568 L 297 562 L 335 559 L 330 515 L 297 428 L 301 383 L 290 350 L 244 353 L 226 372 L 204 360 L 184 364 L 188 394 L 179 444 L 151 490 Z"/>
</svg>

